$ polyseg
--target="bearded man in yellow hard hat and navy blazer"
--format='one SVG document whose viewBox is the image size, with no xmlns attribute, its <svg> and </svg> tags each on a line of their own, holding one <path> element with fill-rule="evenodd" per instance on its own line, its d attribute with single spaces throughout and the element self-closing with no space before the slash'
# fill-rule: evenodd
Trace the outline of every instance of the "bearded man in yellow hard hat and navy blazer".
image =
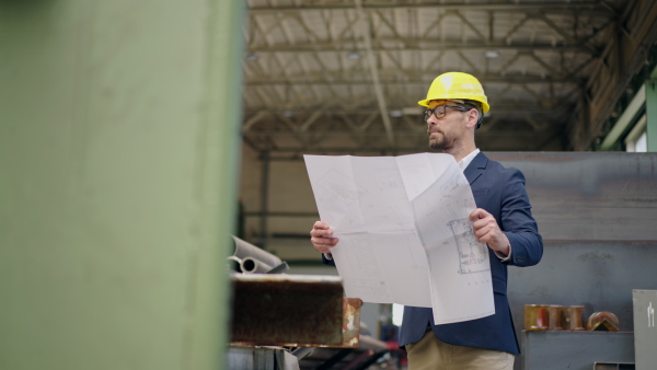
<svg viewBox="0 0 657 370">
<path fill-rule="evenodd" d="M 543 241 L 531 216 L 525 176 L 489 160 L 475 146 L 474 131 L 488 101 L 476 78 L 449 72 L 437 77 L 427 99 L 425 119 L 429 146 L 454 157 L 479 207 L 470 215 L 475 236 L 488 245 L 495 314 L 453 324 L 435 325 L 431 309 L 405 307 L 400 347 L 405 346 L 408 369 L 512 369 L 520 354 L 506 297 L 507 266 L 531 266 L 543 255 Z M 333 264 L 331 247 L 338 242 L 328 224 L 315 222 L 311 241 Z"/>
</svg>

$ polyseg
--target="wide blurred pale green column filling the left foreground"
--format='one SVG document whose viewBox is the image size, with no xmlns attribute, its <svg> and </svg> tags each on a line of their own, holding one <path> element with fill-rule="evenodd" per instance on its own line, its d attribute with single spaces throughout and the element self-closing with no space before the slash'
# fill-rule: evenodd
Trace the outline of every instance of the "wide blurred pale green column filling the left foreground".
<svg viewBox="0 0 657 370">
<path fill-rule="evenodd" d="M 0 369 L 221 369 L 244 2 L 0 1 Z"/>
</svg>

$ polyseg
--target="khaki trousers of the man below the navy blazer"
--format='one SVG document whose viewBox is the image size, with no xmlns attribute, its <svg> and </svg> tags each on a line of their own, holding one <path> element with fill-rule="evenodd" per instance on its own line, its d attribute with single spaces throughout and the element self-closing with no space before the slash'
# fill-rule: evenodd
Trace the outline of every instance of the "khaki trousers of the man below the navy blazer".
<svg viewBox="0 0 657 370">
<path fill-rule="evenodd" d="M 406 345 L 408 370 L 512 370 L 514 355 L 499 350 L 453 346 L 430 329 L 422 340 Z"/>
</svg>

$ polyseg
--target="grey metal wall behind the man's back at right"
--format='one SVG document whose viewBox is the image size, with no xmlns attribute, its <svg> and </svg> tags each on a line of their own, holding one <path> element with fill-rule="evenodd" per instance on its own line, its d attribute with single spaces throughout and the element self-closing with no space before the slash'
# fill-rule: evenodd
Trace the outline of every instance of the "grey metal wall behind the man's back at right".
<svg viewBox="0 0 657 370">
<path fill-rule="evenodd" d="M 509 268 L 518 334 L 525 304 L 584 305 L 585 325 L 611 311 L 632 332 L 632 289 L 657 289 L 657 153 L 489 157 L 525 173 L 545 242 L 539 265 Z"/>
</svg>

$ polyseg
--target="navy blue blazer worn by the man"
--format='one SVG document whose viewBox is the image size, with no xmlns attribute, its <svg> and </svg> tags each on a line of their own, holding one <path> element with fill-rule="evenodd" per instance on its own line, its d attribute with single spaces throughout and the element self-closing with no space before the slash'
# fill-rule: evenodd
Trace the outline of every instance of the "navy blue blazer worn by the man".
<svg viewBox="0 0 657 370">
<path fill-rule="evenodd" d="M 463 172 L 479 208 L 488 211 L 511 244 L 511 258 L 502 263 L 488 248 L 495 314 L 453 324 L 435 325 L 431 309 L 405 307 L 400 331 L 400 347 L 416 343 L 426 333 L 427 325 L 442 342 L 457 346 L 502 350 L 520 354 L 511 311 L 507 299 L 507 266 L 532 266 L 541 261 L 543 240 L 531 216 L 531 205 L 525 189 L 525 175 L 517 169 L 505 169 L 500 163 L 479 153 Z M 333 261 L 322 259 L 326 264 Z"/>
</svg>

